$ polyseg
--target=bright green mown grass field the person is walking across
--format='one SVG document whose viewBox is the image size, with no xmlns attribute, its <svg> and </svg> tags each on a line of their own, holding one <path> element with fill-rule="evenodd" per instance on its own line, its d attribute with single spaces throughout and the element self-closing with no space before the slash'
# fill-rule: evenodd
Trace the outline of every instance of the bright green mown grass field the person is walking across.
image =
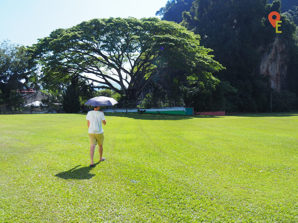
<svg viewBox="0 0 298 223">
<path fill-rule="evenodd" d="M 0 115 L 0 222 L 298 222 L 298 114 Z"/>
</svg>

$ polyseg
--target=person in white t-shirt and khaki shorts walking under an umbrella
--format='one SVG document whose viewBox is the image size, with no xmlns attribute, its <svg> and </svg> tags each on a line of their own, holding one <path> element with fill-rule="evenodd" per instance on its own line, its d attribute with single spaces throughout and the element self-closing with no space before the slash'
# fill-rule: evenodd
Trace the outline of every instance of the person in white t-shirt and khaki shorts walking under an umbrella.
<svg viewBox="0 0 298 223">
<path fill-rule="evenodd" d="M 90 111 L 87 113 L 87 125 L 88 125 L 88 133 L 90 139 L 90 159 L 91 163 L 89 167 L 93 167 L 93 157 L 94 150 L 96 145 L 98 144 L 98 151 L 100 156 L 100 161 L 104 161 L 105 157 L 103 157 L 103 127 L 102 125 L 106 124 L 105 115 L 103 112 L 100 112 L 100 106 L 93 106 L 94 111 Z"/>
</svg>

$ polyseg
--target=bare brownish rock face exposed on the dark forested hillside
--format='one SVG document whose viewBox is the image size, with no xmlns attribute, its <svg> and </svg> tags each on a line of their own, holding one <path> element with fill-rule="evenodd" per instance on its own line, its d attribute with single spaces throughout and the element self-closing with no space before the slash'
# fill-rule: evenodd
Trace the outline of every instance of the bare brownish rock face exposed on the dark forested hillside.
<svg viewBox="0 0 298 223">
<path fill-rule="evenodd" d="M 262 55 L 260 74 L 270 76 L 271 88 L 274 91 L 280 92 L 282 89 L 287 89 L 289 51 L 286 44 L 277 35 L 274 42 L 269 44 L 266 49 L 260 48 L 259 50 Z"/>
</svg>

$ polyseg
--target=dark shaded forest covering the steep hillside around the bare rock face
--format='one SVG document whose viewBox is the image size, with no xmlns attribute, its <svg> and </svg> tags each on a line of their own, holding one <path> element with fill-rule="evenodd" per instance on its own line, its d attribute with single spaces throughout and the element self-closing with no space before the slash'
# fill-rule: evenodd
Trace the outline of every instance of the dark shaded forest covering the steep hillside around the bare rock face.
<svg viewBox="0 0 298 223">
<path fill-rule="evenodd" d="M 173 15 L 180 15 L 178 6 L 181 4 L 188 9 L 182 13 L 183 20 L 177 20 L 177 15 Z M 283 90 L 275 92 L 275 95 L 284 98 L 286 104 L 286 97 L 289 95 L 294 97 L 295 101 L 296 95 L 292 93 L 298 93 L 298 29 L 294 24 L 297 21 L 297 8 L 291 4 L 291 1 L 267 4 L 266 0 L 194 0 L 190 6 L 186 1 L 176 0 L 168 1 L 166 6 L 157 12 L 157 15 L 163 15 L 162 19 L 181 22 L 188 30 L 199 34 L 202 37 L 201 45 L 211 48 L 215 60 L 226 67 L 216 74 L 216 78 L 237 89 L 237 93 L 233 90 L 224 96 L 225 104 L 222 104 L 222 97 L 218 98 L 219 91 L 215 93 L 209 90 L 205 97 L 198 96 L 200 98 L 193 102 L 194 107 L 202 108 L 207 97 L 209 106 L 205 106 L 204 110 L 221 107 L 226 111 L 268 111 L 272 88 L 270 77 L 259 73 L 263 53 L 261 49 L 266 49 L 277 37 L 288 50 L 288 59 L 285 61 L 288 73 Z M 281 12 L 281 5 L 284 12 L 292 11 L 282 14 L 283 33 L 277 34 L 268 21 L 268 14 L 272 11 Z M 221 87 L 215 84 L 216 88 Z M 297 106 L 297 101 L 287 104 L 288 108 Z"/>
</svg>

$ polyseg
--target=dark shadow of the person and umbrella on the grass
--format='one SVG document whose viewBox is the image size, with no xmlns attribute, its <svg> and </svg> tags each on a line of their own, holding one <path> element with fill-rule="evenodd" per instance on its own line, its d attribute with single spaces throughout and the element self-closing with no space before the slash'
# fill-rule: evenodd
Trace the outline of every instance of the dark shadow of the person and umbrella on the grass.
<svg viewBox="0 0 298 223">
<path fill-rule="evenodd" d="M 81 165 L 78 165 L 68 171 L 57 173 L 55 176 L 66 180 L 67 179 L 77 179 L 77 180 L 91 179 L 93 176 L 95 176 L 95 174 L 91 174 L 89 172 L 92 168 L 94 168 L 99 163 L 100 161 L 97 163 L 94 163 L 93 167 L 81 167 L 77 169 L 77 167 L 81 166 Z"/>
</svg>

